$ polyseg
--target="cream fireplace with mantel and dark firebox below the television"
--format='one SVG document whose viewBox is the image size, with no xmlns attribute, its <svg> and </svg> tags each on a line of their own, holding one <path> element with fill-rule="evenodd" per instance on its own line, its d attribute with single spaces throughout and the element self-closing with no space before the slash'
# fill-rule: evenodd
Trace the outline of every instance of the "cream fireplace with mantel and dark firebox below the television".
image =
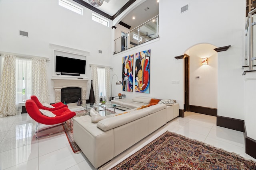
<svg viewBox="0 0 256 170">
<path fill-rule="evenodd" d="M 61 77 L 58 76 L 52 76 L 52 80 L 54 81 L 55 103 L 65 101 L 67 104 L 76 104 L 78 98 L 81 98 L 83 104 L 86 104 L 88 80 L 74 78 L 61 79 Z M 77 90 L 79 90 L 79 92 Z M 66 91 L 70 91 L 68 92 L 70 94 L 66 94 Z M 64 97 L 62 96 L 63 92 L 65 93 Z"/>
</svg>

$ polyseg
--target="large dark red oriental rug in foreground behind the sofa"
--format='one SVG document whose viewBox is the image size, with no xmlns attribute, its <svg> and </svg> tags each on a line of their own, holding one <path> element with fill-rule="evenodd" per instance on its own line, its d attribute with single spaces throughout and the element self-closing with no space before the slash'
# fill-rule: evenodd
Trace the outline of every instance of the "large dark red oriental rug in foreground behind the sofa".
<svg viewBox="0 0 256 170">
<path fill-rule="evenodd" d="M 110 170 L 255 170 L 256 162 L 166 131 Z"/>
</svg>

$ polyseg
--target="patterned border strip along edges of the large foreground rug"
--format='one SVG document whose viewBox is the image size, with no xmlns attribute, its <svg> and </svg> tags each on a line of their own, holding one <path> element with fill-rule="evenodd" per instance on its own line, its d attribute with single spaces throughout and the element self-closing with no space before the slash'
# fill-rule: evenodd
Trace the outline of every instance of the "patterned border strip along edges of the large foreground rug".
<svg viewBox="0 0 256 170">
<path fill-rule="evenodd" d="M 160 143 L 160 145 L 154 145 L 155 148 L 154 150 L 151 150 L 147 155 L 141 155 L 141 160 L 138 161 L 137 163 L 135 163 L 132 167 L 128 168 L 128 169 L 122 169 L 122 165 L 126 164 L 127 162 L 129 162 L 130 160 L 132 160 L 132 158 L 138 156 L 140 153 L 142 153 L 144 150 L 148 149 L 148 147 L 150 147 L 152 144 L 160 141 L 163 137 L 165 137 L 166 135 L 168 134 L 171 134 L 169 137 L 167 137 L 168 139 L 164 139 L 164 141 L 162 143 Z M 169 141 L 169 139 L 171 137 L 179 137 L 181 139 L 183 139 L 184 141 L 186 142 L 191 142 L 193 141 L 194 143 L 196 143 L 196 147 L 198 148 L 204 148 L 204 149 L 208 149 L 212 152 L 216 152 L 218 154 L 222 154 L 224 156 L 227 156 L 228 158 L 230 159 L 235 159 L 236 161 L 244 161 L 244 162 L 252 162 L 254 163 L 254 167 L 256 167 L 256 162 L 254 160 L 251 160 L 251 159 L 248 159 L 248 158 L 244 158 L 242 156 L 240 156 L 239 154 L 237 153 L 234 153 L 234 152 L 229 152 L 227 150 L 224 150 L 222 148 L 218 148 L 218 147 L 214 147 L 210 144 L 207 144 L 207 143 L 203 143 L 201 141 L 198 141 L 196 139 L 190 139 L 186 136 L 183 136 L 183 135 L 180 135 L 178 133 L 175 133 L 175 132 L 170 132 L 170 131 L 166 131 L 164 132 L 162 135 L 160 135 L 159 137 L 157 137 L 156 139 L 154 139 L 153 141 L 151 141 L 150 143 L 148 143 L 147 145 L 145 145 L 144 147 L 142 147 L 141 149 L 139 149 L 137 152 L 135 152 L 134 154 L 132 154 L 131 156 L 129 156 L 128 158 L 124 159 L 122 162 L 120 162 L 119 164 L 117 164 L 116 166 L 114 166 L 113 168 L 111 168 L 110 170 L 136 170 L 136 167 L 141 164 L 148 156 L 150 156 L 149 154 L 152 153 L 152 152 L 155 152 L 159 147 L 162 146 L 163 143 L 166 143 Z M 194 144 L 195 145 L 195 144 Z M 134 163 L 134 162 L 133 162 Z M 134 167 L 136 166 L 136 167 Z M 119 169 L 121 168 L 121 169 Z M 254 170 L 254 169 L 253 169 Z"/>
</svg>

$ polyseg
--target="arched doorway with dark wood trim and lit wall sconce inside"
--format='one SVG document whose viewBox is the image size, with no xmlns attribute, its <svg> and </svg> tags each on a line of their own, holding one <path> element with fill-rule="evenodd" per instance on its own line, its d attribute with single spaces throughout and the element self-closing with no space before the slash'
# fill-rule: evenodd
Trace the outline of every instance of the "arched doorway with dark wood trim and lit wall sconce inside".
<svg viewBox="0 0 256 170">
<path fill-rule="evenodd" d="M 211 44 L 198 44 L 184 54 L 184 111 L 217 115 L 218 54 Z M 208 64 L 202 65 L 202 58 Z"/>
</svg>

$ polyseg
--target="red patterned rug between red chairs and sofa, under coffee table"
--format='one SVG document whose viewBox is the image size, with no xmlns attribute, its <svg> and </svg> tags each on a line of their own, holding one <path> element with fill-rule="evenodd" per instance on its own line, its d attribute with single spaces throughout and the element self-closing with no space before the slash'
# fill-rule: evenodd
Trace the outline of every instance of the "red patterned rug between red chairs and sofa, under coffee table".
<svg viewBox="0 0 256 170">
<path fill-rule="evenodd" d="M 75 111 L 75 112 L 76 112 L 76 115 L 74 117 L 79 117 L 79 116 L 83 116 L 86 114 L 85 110 L 80 110 L 80 111 Z M 81 149 L 78 147 L 78 145 L 76 144 L 76 142 L 74 141 L 74 138 L 73 138 L 73 119 L 71 119 L 71 125 L 70 125 L 70 121 L 67 121 L 66 124 L 63 125 L 63 127 L 65 129 L 70 129 L 70 127 L 71 127 L 70 131 L 65 132 L 66 136 L 68 138 L 68 142 L 69 142 L 70 147 L 72 148 L 74 153 L 81 152 Z"/>
</svg>

